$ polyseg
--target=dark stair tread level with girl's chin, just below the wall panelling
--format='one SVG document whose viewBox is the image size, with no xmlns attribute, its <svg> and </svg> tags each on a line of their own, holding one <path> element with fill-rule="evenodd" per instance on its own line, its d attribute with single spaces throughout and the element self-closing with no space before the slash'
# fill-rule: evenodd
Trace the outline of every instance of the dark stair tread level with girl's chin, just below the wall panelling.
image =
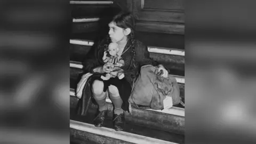
<svg viewBox="0 0 256 144">
<path fill-rule="evenodd" d="M 106 33 L 99 34 L 98 31 L 95 31 L 91 33 L 71 34 L 70 39 L 86 39 L 95 41 L 95 39 L 102 38 L 102 35 L 106 35 Z M 179 50 L 185 49 L 184 35 L 137 31 L 135 37 L 147 46 L 166 47 Z"/>
</svg>

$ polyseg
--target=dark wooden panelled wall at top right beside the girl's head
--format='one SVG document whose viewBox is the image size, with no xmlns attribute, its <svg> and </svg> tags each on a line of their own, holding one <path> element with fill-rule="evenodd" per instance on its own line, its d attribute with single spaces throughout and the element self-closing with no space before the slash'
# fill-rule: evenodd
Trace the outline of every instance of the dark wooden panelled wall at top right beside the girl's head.
<svg viewBox="0 0 256 144">
<path fill-rule="evenodd" d="M 137 31 L 183 35 L 184 2 L 184 0 L 126 0 L 126 7 L 137 21 Z"/>
</svg>

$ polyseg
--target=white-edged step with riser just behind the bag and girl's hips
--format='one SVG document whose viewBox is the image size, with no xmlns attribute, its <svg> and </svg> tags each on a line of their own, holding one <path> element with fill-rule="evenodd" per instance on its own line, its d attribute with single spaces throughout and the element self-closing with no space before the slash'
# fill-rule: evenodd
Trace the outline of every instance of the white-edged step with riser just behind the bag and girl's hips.
<svg viewBox="0 0 256 144">
<path fill-rule="evenodd" d="M 70 67 L 70 88 L 76 89 L 77 83 L 80 81 L 81 77 L 83 75 L 83 70 L 80 68 L 75 68 L 73 65 Z M 185 79 L 183 77 L 177 76 L 178 79 L 178 85 L 180 88 L 180 97 L 182 98 L 182 101 L 185 103 Z M 182 83 L 184 82 L 184 83 Z M 176 107 L 184 108 L 181 104 L 177 105 Z"/>
</svg>

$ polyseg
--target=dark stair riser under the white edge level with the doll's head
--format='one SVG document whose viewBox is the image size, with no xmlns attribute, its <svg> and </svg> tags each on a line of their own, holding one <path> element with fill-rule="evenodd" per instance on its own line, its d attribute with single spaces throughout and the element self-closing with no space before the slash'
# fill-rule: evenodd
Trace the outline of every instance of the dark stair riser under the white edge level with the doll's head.
<svg viewBox="0 0 256 144">
<path fill-rule="evenodd" d="M 70 60 L 82 62 L 83 59 L 86 57 L 87 52 L 90 51 L 90 49 L 91 46 L 70 44 Z M 150 57 L 158 61 L 159 63 L 163 64 L 170 70 L 185 70 L 185 57 L 183 56 L 162 53 L 150 53 Z M 183 75 L 183 73 L 180 75 Z"/>
</svg>

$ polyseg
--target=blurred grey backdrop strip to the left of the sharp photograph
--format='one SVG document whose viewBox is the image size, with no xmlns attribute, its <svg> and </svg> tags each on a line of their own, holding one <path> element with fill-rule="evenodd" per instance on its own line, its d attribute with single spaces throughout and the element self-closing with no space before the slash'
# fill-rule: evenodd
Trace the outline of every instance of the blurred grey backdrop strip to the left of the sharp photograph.
<svg viewBox="0 0 256 144">
<path fill-rule="evenodd" d="M 69 142 L 68 4 L 0 2 L 1 143 Z"/>
</svg>

